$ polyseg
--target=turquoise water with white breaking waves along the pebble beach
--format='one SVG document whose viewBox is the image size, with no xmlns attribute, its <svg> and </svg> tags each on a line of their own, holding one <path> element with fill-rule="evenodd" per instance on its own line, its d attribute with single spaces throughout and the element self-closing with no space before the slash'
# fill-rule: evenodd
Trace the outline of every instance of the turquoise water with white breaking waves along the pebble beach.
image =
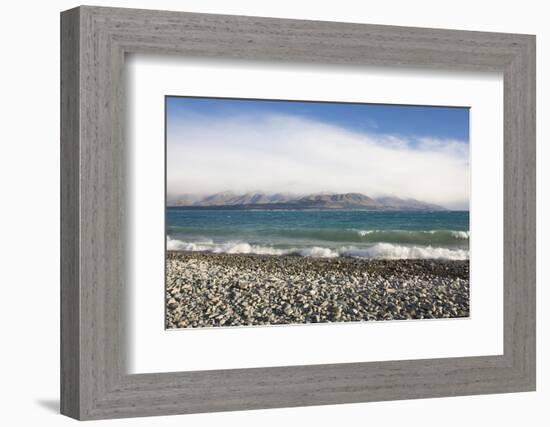
<svg viewBox="0 0 550 427">
<path fill-rule="evenodd" d="M 167 248 L 228 253 L 468 259 L 468 211 L 166 209 Z"/>
</svg>

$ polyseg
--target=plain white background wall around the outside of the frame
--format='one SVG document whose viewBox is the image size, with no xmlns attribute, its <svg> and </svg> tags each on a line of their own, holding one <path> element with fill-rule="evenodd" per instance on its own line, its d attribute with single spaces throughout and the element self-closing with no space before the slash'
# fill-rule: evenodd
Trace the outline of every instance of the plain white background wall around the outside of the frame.
<svg viewBox="0 0 550 427">
<path fill-rule="evenodd" d="M 550 423 L 550 27 L 545 2 L 353 0 L 96 1 L 96 5 L 441 27 L 537 35 L 538 391 L 109 421 L 110 425 L 498 425 Z M 4 2 L 0 23 L 0 422 L 68 425 L 59 402 L 59 12 L 74 1 Z M 545 182 L 546 181 L 546 182 Z"/>
</svg>

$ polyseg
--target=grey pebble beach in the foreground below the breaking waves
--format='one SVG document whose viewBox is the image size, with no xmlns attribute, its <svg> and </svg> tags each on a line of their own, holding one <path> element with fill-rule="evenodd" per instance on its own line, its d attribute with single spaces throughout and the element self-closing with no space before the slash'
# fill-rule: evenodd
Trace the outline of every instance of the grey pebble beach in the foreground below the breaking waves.
<svg viewBox="0 0 550 427">
<path fill-rule="evenodd" d="M 168 252 L 166 327 L 469 316 L 469 262 Z"/>
</svg>

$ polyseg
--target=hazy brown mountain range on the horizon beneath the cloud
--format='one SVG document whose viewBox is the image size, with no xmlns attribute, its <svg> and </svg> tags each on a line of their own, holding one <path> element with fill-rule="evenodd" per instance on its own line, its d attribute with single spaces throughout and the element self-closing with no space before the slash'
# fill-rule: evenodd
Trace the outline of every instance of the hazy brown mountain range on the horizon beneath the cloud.
<svg viewBox="0 0 550 427">
<path fill-rule="evenodd" d="M 197 196 L 168 195 L 170 207 L 196 209 L 342 209 L 342 210 L 446 210 L 444 207 L 415 199 L 369 197 L 361 193 L 292 195 L 260 191 L 235 194 L 230 191 Z"/>
</svg>

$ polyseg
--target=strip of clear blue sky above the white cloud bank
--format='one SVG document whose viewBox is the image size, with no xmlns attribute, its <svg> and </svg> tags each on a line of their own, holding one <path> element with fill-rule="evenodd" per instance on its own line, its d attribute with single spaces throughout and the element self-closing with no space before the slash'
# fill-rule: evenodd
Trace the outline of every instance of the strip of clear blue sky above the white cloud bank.
<svg viewBox="0 0 550 427">
<path fill-rule="evenodd" d="M 169 123 L 193 115 L 212 119 L 236 115 L 284 114 L 357 132 L 408 138 L 469 140 L 469 108 L 332 102 L 264 101 L 167 97 Z"/>
</svg>

